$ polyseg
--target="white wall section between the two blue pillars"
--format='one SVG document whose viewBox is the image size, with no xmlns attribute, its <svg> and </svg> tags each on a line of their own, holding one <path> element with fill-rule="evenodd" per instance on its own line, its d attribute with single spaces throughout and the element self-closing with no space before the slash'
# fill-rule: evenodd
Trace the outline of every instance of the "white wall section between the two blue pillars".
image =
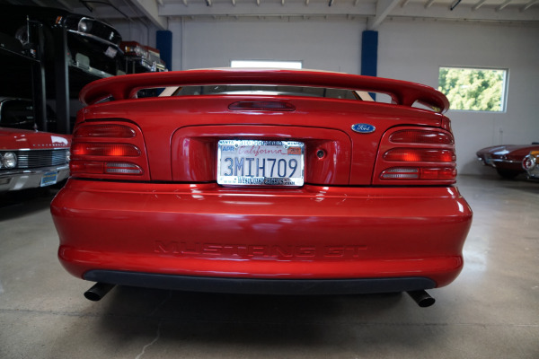
<svg viewBox="0 0 539 359">
<path fill-rule="evenodd" d="M 365 27 L 365 22 L 323 19 L 171 21 L 172 69 L 227 67 L 234 59 L 276 59 L 301 60 L 304 68 L 358 74 Z M 178 33 L 183 34 L 183 41 L 176 37 Z"/>
</svg>

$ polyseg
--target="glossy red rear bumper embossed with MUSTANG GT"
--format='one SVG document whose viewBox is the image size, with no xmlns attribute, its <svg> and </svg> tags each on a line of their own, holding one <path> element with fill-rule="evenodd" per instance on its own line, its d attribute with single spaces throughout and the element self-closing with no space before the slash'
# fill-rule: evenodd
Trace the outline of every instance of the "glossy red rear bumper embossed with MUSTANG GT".
<svg viewBox="0 0 539 359">
<path fill-rule="evenodd" d="M 126 284 L 123 276 L 95 273 L 131 273 L 142 286 L 151 286 L 154 279 L 145 278 L 153 275 L 427 278 L 443 286 L 462 269 L 472 222 L 453 187 L 234 189 L 68 180 L 51 211 L 58 256 L 71 274 Z M 181 286 L 169 279 L 162 286 Z"/>
</svg>

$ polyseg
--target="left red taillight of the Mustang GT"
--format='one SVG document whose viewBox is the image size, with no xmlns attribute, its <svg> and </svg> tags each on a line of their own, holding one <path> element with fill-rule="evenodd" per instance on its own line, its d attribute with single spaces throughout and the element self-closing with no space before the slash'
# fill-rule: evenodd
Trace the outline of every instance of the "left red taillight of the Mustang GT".
<svg viewBox="0 0 539 359">
<path fill-rule="evenodd" d="M 74 177 L 149 180 L 144 140 L 138 127 L 117 123 L 84 124 L 75 129 L 70 171 Z"/>
</svg>

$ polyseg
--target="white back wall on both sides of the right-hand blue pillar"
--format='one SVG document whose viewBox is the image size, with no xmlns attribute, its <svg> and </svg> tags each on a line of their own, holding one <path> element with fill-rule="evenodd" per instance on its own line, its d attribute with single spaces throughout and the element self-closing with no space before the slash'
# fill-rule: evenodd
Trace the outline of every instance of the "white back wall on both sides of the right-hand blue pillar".
<svg viewBox="0 0 539 359">
<path fill-rule="evenodd" d="M 229 66 L 232 59 L 301 60 L 304 68 L 358 74 L 363 20 L 173 20 L 172 69 Z M 505 113 L 449 110 L 461 174 L 492 173 L 475 152 L 539 141 L 539 27 L 388 19 L 378 29 L 378 75 L 437 87 L 439 66 L 509 70 Z"/>
</svg>

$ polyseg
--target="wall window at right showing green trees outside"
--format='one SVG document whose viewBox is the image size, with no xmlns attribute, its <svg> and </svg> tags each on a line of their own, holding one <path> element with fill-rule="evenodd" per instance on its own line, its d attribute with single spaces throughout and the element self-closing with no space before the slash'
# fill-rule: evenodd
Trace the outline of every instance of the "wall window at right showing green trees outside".
<svg viewBox="0 0 539 359">
<path fill-rule="evenodd" d="M 451 109 L 505 111 L 507 70 L 440 67 L 438 90 Z"/>
</svg>

